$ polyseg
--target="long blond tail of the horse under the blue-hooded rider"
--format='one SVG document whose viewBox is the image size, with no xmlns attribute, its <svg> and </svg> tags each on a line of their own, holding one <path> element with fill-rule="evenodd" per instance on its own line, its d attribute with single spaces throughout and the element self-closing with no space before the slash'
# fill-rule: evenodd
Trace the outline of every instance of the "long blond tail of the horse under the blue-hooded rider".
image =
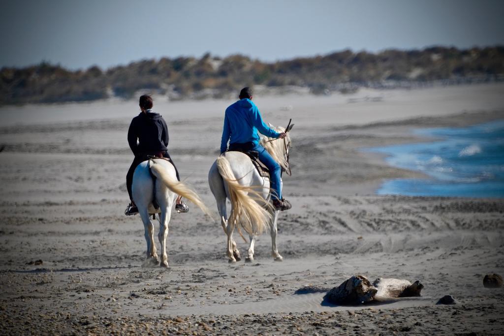
<svg viewBox="0 0 504 336">
<path fill-rule="evenodd" d="M 254 187 L 238 183 L 229 161 L 224 156 L 217 158 L 217 169 L 228 186 L 232 206 L 229 220 L 236 223 L 240 235 L 240 226 L 250 235 L 264 232 L 268 228 L 267 223 L 271 219 L 271 214 L 258 204 L 258 201 L 268 207 L 266 199 L 254 190 Z"/>
</svg>

